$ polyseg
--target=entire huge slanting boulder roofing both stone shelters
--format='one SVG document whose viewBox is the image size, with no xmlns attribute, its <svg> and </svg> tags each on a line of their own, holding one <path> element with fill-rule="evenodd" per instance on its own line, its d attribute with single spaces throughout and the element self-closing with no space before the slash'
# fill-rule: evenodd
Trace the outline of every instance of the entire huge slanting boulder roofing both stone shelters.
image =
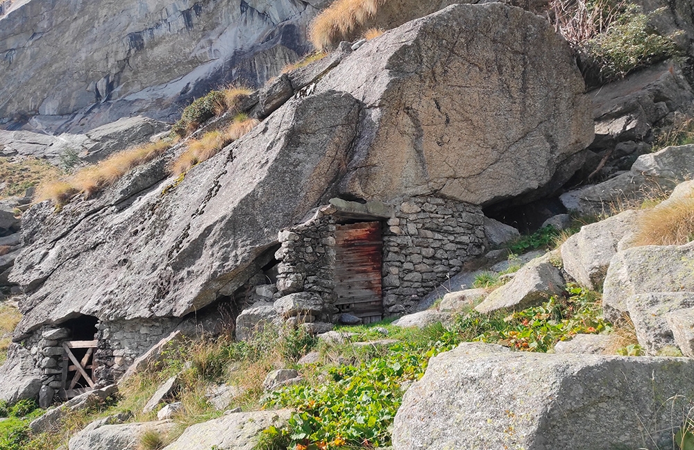
<svg viewBox="0 0 694 450">
<path fill-rule="evenodd" d="M 31 296 L 16 337 L 80 314 L 198 311 L 272 261 L 278 232 L 330 198 L 483 205 L 553 186 L 593 137 L 566 43 L 502 4 L 451 6 L 389 31 L 310 90 L 183 181 L 167 179 L 174 149 L 94 200 L 28 211 L 12 279 Z"/>
</svg>

